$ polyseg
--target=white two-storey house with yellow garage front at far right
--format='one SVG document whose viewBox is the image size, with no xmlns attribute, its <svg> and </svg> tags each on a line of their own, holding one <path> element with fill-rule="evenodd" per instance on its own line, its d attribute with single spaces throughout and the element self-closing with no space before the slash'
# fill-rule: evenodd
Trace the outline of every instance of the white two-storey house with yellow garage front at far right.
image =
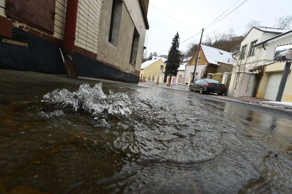
<svg viewBox="0 0 292 194">
<path fill-rule="evenodd" d="M 292 30 L 253 27 L 241 43 L 241 50 L 233 53 L 235 60 L 233 71 L 258 71 L 258 66 L 264 65 L 264 74 L 256 90 L 257 98 L 275 100 L 285 62 L 273 62 L 275 47 L 292 43 Z M 291 68 L 290 68 L 291 72 Z M 286 81 L 282 100 L 292 102 L 291 73 Z"/>
</svg>

